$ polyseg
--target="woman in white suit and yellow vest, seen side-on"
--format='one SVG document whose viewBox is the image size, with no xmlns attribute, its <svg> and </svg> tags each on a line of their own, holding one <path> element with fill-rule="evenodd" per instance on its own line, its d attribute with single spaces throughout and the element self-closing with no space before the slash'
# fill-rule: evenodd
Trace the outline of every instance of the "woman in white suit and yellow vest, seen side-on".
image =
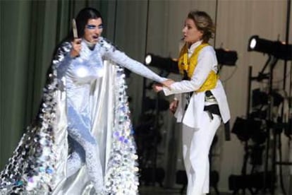
<svg viewBox="0 0 292 195">
<path fill-rule="evenodd" d="M 165 95 L 175 95 L 170 110 L 183 122 L 183 160 L 188 175 L 188 195 L 209 193 L 209 148 L 221 124 L 230 119 L 223 85 L 217 75 L 214 48 L 208 44 L 214 23 L 203 11 L 190 11 L 183 27 L 185 45 L 178 59 L 182 81 L 154 85 Z"/>
</svg>

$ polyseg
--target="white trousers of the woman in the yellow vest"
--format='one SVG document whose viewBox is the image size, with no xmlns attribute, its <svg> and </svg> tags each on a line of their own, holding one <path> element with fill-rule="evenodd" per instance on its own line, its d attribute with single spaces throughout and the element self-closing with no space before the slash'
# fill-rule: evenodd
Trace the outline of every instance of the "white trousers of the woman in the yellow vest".
<svg viewBox="0 0 292 195">
<path fill-rule="evenodd" d="M 209 149 L 221 124 L 221 117 L 213 119 L 204 112 L 200 129 L 183 125 L 183 161 L 188 177 L 187 195 L 209 193 Z"/>
</svg>

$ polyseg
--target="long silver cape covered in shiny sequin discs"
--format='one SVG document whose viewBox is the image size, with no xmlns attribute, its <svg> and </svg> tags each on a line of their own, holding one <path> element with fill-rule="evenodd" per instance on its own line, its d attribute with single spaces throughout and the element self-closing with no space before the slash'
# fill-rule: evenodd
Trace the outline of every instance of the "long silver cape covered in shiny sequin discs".
<svg viewBox="0 0 292 195">
<path fill-rule="evenodd" d="M 68 52 L 63 45 L 56 54 L 43 88 L 35 121 L 20 138 L 13 155 L 0 173 L 0 194 L 92 194 L 85 167 L 66 179 L 68 158 L 66 91 L 57 78 L 56 61 Z M 104 61 L 104 77 L 93 90 L 92 134 L 104 149 L 106 194 L 137 194 L 138 167 L 133 127 L 123 68 Z M 100 134 L 103 134 L 102 140 Z"/>
</svg>

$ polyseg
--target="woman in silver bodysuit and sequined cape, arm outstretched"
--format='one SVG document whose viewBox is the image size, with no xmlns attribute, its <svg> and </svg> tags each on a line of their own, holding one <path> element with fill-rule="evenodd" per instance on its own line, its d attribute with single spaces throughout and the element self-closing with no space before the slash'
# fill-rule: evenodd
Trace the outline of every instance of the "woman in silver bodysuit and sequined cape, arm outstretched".
<svg viewBox="0 0 292 195">
<path fill-rule="evenodd" d="M 124 74 L 113 63 L 159 83 L 166 79 L 101 36 L 99 11 L 84 8 L 75 21 L 80 38 L 71 35 L 56 50 L 37 119 L 1 172 L 3 193 L 138 191 Z"/>
</svg>

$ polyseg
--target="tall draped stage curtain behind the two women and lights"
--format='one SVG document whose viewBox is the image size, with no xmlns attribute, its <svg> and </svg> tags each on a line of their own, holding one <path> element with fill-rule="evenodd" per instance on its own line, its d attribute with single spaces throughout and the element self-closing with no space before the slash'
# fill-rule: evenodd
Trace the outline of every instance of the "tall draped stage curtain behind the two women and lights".
<svg viewBox="0 0 292 195">
<path fill-rule="evenodd" d="M 42 94 L 45 75 L 54 47 L 71 28 L 71 19 L 85 6 L 101 11 L 104 17 L 104 37 L 114 42 L 130 57 L 143 61 L 146 52 L 164 57 L 178 57 L 181 29 L 187 13 L 206 11 L 216 21 L 216 39 L 210 44 L 238 52 L 236 66 L 221 69 L 220 78 L 231 108 L 231 125 L 244 116 L 247 107 L 248 66 L 255 76 L 267 61 L 260 52 L 248 52 L 248 39 L 259 35 L 267 40 L 281 40 L 291 44 L 292 16 L 288 15 L 289 0 L 0 0 L 0 169 L 2 169 L 20 136 L 35 117 Z M 289 20 L 288 20 L 289 19 Z M 274 70 L 274 88 L 291 97 L 291 61 L 284 76 L 284 61 Z M 176 75 L 170 75 L 176 78 Z M 128 95 L 132 119 L 138 123 L 142 105 L 142 77 L 131 73 Z M 147 81 L 150 83 L 150 81 Z M 264 88 L 253 83 L 253 88 Z M 147 95 L 155 95 L 147 91 Z M 163 96 L 163 95 L 162 95 Z M 172 97 L 169 98 L 169 100 Z M 285 105 L 287 107 L 287 105 Z M 288 107 L 287 107 L 288 108 Z M 181 131 L 169 112 L 163 112 L 164 125 L 159 131 L 162 143 L 158 146 L 157 165 L 166 170 L 166 186 L 174 184 L 174 167 L 183 169 Z M 229 175 L 240 175 L 243 163 L 243 144 L 231 134 L 224 141 L 224 131 L 217 131 L 219 141 L 214 148 L 212 168 L 219 171 L 219 190 L 228 191 Z M 288 138 L 282 137 L 284 160 L 289 158 Z M 176 158 L 177 155 L 177 158 Z M 288 167 L 286 178 L 289 174 Z"/>
</svg>

